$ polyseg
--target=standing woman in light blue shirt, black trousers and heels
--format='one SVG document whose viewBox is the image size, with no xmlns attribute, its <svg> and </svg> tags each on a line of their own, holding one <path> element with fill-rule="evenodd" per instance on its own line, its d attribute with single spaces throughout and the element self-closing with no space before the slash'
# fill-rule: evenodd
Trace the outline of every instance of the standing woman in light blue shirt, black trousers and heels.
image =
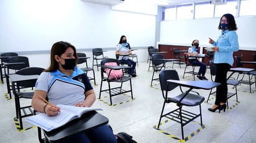
<svg viewBox="0 0 256 143">
<path fill-rule="evenodd" d="M 209 111 L 215 112 L 216 110 L 226 110 L 227 101 L 227 72 L 234 63 L 233 52 L 239 50 L 238 37 L 235 30 L 237 25 L 232 14 L 224 14 L 219 21 L 219 30 L 221 35 L 214 41 L 209 38 L 209 43 L 214 47 L 213 63 L 216 64 L 216 77 L 215 82 L 221 83 L 221 86 L 216 89 L 216 100 Z"/>
</svg>

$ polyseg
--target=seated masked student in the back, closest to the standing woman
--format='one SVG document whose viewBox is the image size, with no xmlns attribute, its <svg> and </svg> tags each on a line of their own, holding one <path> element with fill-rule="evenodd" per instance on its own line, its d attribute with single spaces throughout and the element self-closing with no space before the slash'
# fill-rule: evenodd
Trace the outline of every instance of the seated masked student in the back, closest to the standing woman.
<svg viewBox="0 0 256 143">
<path fill-rule="evenodd" d="M 198 40 L 193 40 L 191 47 L 188 48 L 188 53 L 190 54 L 190 56 L 197 56 L 198 55 L 198 46 L 199 46 L 199 41 Z M 199 71 L 198 71 L 198 79 L 200 80 L 208 80 L 206 79 L 206 77 L 204 76 L 205 72 L 206 72 L 206 64 L 204 64 L 203 62 L 199 61 L 199 58 L 193 58 L 190 57 L 188 59 L 188 62 L 190 64 L 194 64 L 196 66 L 200 66 Z"/>
</svg>

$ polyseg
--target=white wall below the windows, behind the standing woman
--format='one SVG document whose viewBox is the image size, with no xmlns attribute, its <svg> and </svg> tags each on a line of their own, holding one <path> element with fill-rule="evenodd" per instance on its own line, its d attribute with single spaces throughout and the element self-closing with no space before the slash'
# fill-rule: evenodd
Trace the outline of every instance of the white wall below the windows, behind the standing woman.
<svg viewBox="0 0 256 143">
<path fill-rule="evenodd" d="M 240 50 L 256 50 L 256 17 L 235 18 Z M 160 43 L 191 45 L 198 39 L 200 45 L 209 45 L 209 37 L 217 40 L 219 19 L 170 20 L 161 22 Z"/>
</svg>

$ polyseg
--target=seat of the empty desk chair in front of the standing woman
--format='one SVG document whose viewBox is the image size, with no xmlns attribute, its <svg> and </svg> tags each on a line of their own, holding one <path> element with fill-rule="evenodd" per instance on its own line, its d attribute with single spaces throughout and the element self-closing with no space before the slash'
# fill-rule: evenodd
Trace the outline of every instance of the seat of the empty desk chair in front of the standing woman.
<svg viewBox="0 0 256 143">
<path fill-rule="evenodd" d="M 178 95 L 176 97 L 168 97 L 167 103 L 170 103 L 170 102 L 178 103 L 180 101 L 180 99 L 182 97 L 184 97 L 184 95 L 185 95 L 185 93 L 181 93 L 180 95 Z M 188 93 L 188 95 L 186 95 L 186 97 L 181 101 L 181 105 L 196 106 L 196 105 L 200 105 L 203 102 L 204 102 L 203 96 Z"/>
</svg>

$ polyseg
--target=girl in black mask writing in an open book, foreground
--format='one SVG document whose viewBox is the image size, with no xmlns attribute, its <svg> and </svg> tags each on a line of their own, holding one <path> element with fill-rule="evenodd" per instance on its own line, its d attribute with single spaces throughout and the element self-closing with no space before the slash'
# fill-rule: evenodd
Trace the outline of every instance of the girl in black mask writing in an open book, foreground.
<svg viewBox="0 0 256 143">
<path fill-rule="evenodd" d="M 78 56 L 75 46 L 58 41 L 52 46 L 50 66 L 40 74 L 35 85 L 32 107 L 48 116 L 56 116 L 61 108 L 55 108 L 40 99 L 48 98 L 53 105 L 73 105 L 90 107 L 96 95 L 88 76 L 76 67 Z M 106 124 L 88 132 L 81 132 L 60 142 L 117 142 Z"/>
</svg>

